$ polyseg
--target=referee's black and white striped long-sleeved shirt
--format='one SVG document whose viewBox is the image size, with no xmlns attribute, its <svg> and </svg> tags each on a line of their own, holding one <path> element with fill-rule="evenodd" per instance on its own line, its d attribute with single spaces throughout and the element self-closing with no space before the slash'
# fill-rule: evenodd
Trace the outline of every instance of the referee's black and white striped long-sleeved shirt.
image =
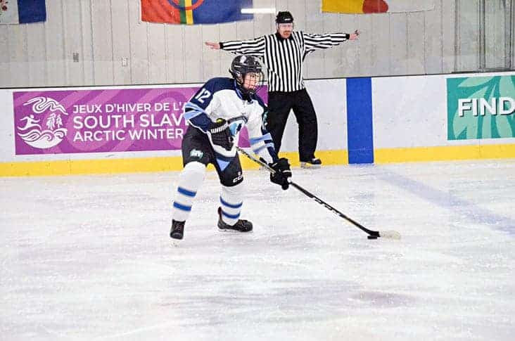
<svg viewBox="0 0 515 341">
<path fill-rule="evenodd" d="M 309 53 L 328 49 L 349 39 L 347 33 L 310 34 L 293 31 L 288 39 L 279 33 L 255 39 L 222 41 L 220 48 L 262 58 L 268 69 L 268 91 L 304 89 L 303 61 Z"/>
</svg>

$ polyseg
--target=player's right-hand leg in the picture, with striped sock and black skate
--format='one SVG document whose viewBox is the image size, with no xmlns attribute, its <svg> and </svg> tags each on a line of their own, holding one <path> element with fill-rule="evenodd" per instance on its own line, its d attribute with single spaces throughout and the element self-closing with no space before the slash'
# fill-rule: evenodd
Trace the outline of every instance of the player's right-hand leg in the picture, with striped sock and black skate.
<svg viewBox="0 0 515 341">
<path fill-rule="evenodd" d="M 222 184 L 220 207 L 218 207 L 218 228 L 240 232 L 252 231 L 250 221 L 239 219 L 243 206 L 243 175 L 238 155 L 223 169 L 220 164 L 215 168 Z"/>
</svg>

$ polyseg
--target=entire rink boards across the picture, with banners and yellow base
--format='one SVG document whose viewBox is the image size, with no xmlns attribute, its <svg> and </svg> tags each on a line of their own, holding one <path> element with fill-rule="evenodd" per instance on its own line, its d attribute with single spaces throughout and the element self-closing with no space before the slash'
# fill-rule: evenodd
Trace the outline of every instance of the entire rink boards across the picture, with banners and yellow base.
<svg viewBox="0 0 515 341">
<path fill-rule="evenodd" d="M 514 75 L 306 81 L 317 111 L 317 157 L 324 165 L 515 157 Z M 1 89 L 0 176 L 179 170 L 182 105 L 199 86 Z M 462 112 L 454 114 L 459 96 L 468 97 L 459 98 Z M 496 96 L 504 112 L 471 109 L 473 98 Z M 248 146 L 246 131 L 240 143 Z M 290 115 L 281 155 L 293 166 L 297 148 L 298 124 Z M 243 159 L 244 168 L 257 168 Z"/>
</svg>

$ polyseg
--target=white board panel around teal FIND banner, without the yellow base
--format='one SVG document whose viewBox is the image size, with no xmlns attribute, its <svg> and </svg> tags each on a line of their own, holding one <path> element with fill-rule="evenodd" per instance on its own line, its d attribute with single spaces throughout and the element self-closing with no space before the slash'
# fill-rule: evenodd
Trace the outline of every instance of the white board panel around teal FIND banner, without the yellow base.
<svg viewBox="0 0 515 341">
<path fill-rule="evenodd" d="M 373 78 L 374 149 L 514 143 L 513 138 L 449 138 L 447 79 L 494 75 L 501 77 L 460 74 Z"/>
</svg>

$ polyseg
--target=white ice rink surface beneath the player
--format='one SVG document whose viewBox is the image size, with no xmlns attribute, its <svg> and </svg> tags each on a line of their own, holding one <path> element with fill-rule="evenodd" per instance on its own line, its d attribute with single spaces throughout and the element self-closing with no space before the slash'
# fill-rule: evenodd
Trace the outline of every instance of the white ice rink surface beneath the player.
<svg viewBox="0 0 515 341">
<path fill-rule="evenodd" d="M 217 230 L 208 172 L 184 240 L 177 172 L 3 178 L 1 340 L 515 340 L 515 160 L 265 171 L 253 233 Z"/>
</svg>

